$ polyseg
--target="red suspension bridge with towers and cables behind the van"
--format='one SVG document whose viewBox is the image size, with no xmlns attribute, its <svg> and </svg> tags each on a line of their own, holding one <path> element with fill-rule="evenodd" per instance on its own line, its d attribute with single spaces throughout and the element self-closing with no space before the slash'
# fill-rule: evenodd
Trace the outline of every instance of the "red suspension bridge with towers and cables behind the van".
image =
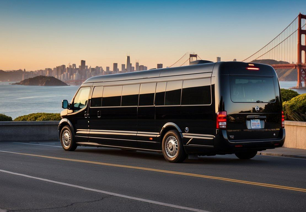
<svg viewBox="0 0 306 212">
<path fill-rule="evenodd" d="M 242 62 L 259 62 L 274 69 L 297 69 L 297 88 L 306 88 L 306 15 L 299 14 L 281 33 Z M 200 58 L 185 53 L 169 67 L 186 66 Z M 201 58 L 200 58 L 201 59 Z"/>
</svg>

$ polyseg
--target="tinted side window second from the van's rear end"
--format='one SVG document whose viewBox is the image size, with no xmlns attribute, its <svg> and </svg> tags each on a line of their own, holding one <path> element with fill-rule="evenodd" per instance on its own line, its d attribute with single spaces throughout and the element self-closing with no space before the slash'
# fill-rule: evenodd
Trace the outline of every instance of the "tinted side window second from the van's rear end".
<svg viewBox="0 0 306 212">
<path fill-rule="evenodd" d="M 181 104 L 182 81 L 167 82 L 165 105 Z"/>
</svg>

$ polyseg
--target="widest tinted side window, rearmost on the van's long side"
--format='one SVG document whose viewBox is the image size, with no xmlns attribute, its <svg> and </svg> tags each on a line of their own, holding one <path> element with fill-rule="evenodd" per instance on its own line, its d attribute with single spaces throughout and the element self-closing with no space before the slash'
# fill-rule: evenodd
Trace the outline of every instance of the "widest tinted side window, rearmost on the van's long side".
<svg viewBox="0 0 306 212">
<path fill-rule="evenodd" d="M 182 104 L 211 104 L 211 79 L 184 80 Z"/>
</svg>

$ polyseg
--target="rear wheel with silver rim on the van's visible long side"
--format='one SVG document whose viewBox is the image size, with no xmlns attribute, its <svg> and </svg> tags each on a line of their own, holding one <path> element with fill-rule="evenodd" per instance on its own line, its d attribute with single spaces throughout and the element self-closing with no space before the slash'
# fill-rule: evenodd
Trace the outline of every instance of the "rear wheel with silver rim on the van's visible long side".
<svg viewBox="0 0 306 212">
<path fill-rule="evenodd" d="M 178 131 L 170 130 L 166 132 L 162 139 L 162 153 L 165 159 L 171 163 L 181 163 L 186 159 L 187 154 Z"/>
</svg>

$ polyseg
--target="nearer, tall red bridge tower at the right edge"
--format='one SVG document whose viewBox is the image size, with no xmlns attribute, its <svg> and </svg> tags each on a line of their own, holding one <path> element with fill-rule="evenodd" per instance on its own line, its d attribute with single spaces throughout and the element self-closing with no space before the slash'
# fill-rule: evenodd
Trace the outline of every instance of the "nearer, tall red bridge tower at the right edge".
<svg viewBox="0 0 306 212">
<path fill-rule="evenodd" d="M 298 16 L 298 26 L 297 26 L 297 88 L 302 88 L 302 81 L 304 81 L 304 86 L 306 87 L 306 69 L 302 68 L 302 51 L 304 51 L 306 63 L 306 30 L 301 27 L 301 19 L 306 20 L 306 15 L 299 14 Z M 305 43 L 302 45 L 302 35 L 305 35 Z"/>
</svg>

